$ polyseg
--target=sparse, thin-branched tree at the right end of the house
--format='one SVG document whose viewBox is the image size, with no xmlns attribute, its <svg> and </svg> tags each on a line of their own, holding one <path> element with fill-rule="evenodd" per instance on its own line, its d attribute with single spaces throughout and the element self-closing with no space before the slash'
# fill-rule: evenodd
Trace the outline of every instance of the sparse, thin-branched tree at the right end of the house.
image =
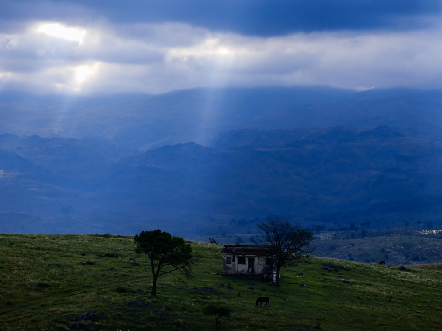
<svg viewBox="0 0 442 331">
<path fill-rule="evenodd" d="M 312 233 L 281 219 L 268 218 L 266 222 L 256 225 L 264 231 L 260 242 L 270 246 L 266 257 L 271 259 L 272 270 L 276 271 L 276 286 L 279 286 L 281 268 L 291 267 L 309 257 Z M 259 244 L 257 240 L 252 240 Z"/>
</svg>

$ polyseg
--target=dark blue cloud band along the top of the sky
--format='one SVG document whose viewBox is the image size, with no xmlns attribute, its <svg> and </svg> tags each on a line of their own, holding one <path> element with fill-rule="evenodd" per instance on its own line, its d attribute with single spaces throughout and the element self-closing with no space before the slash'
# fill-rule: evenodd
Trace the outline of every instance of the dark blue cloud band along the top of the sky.
<svg viewBox="0 0 442 331">
<path fill-rule="evenodd" d="M 272 36 L 325 30 L 428 27 L 440 0 L 76 0 L 3 1 L 3 19 L 96 19 L 182 22 L 210 30 Z"/>
</svg>

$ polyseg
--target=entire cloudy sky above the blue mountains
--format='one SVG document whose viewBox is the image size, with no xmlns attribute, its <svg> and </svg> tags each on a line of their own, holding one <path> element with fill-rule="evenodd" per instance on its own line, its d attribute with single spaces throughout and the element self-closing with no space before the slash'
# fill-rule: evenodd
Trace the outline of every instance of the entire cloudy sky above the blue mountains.
<svg viewBox="0 0 442 331">
<path fill-rule="evenodd" d="M 0 2 L 0 91 L 442 87 L 442 1 Z"/>
</svg>

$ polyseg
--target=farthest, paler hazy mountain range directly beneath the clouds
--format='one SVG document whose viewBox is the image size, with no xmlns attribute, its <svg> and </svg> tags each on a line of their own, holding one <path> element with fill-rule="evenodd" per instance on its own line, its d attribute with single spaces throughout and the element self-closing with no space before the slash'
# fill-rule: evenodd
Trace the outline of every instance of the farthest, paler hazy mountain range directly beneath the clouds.
<svg viewBox="0 0 442 331">
<path fill-rule="evenodd" d="M 376 128 L 441 137 L 440 90 L 260 87 L 96 97 L 0 95 L 0 133 L 99 136 L 118 147 L 207 145 L 238 129 Z M 410 132 L 411 133 L 411 132 Z"/>
</svg>

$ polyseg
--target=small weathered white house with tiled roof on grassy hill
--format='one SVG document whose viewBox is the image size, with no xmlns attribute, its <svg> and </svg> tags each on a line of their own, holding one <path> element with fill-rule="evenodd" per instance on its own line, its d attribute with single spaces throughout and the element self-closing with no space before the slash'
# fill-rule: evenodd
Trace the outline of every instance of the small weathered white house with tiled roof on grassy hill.
<svg viewBox="0 0 442 331">
<path fill-rule="evenodd" d="M 267 252 L 271 246 L 224 245 L 222 254 L 222 274 L 242 278 L 276 281 Z"/>
</svg>

